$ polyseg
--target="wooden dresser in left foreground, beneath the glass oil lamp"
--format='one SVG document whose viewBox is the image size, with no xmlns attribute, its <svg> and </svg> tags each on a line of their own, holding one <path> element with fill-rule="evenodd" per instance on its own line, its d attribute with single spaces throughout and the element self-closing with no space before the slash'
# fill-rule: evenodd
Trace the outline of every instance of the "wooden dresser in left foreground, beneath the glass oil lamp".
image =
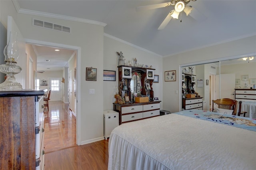
<svg viewBox="0 0 256 170">
<path fill-rule="evenodd" d="M 1 170 L 44 169 L 46 91 L 0 91 Z"/>
</svg>

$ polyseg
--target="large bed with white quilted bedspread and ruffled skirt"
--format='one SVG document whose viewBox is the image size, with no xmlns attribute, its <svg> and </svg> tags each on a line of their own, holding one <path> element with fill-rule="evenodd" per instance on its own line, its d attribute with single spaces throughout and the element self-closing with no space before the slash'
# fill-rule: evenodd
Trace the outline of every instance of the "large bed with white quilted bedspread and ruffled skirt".
<svg viewBox="0 0 256 170">
<path fill-rule="evenodd" d="M 256 169 L 256 119 L 186 110 L 116 127 L 108 170 Z"/>
</svg>

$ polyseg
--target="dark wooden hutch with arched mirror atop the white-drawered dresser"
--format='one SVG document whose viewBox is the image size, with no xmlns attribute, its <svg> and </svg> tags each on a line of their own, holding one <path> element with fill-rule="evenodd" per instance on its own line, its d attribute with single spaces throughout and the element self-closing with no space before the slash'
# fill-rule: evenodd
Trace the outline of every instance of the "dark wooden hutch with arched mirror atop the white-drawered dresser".
<svg viewBox="0 0 256 170">
<path fill-rule="evenodd" d="M 127 65 L 118 66 L 119 95 L 124 98 L 129 96 L 131 102 L 132 94 L 148 96 L 150 101 L 154 100 L 152 84 L 154 81 L 154 70 L 143 67 L 132 67 Z M 146 85 L 148 85 L 146 87 Z"/>
</svg>

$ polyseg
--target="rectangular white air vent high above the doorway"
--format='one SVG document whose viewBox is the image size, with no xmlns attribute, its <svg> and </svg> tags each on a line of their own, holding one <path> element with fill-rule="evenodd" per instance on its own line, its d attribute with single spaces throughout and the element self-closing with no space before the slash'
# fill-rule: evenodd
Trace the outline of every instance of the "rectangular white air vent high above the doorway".
<svg viewBox="0 0 256 170">
<path fill-rule="evenodd" d="M 61 31 L 61 32 L 70 33 L 70 28 L 69 27 L 60 26 L 60 25 L 57 25 L 57 24 L 52 24 L 50 22 L 44 22 L 44 21 L 40 21 L 40 20 L 32 19 L 32 26 L 40 26 L 40 27 L 43 27 L 43 28 L 48 28 L 48 29 L 52 29 L 52 30 L 57 30 L 57 31 Z"/>
</svg>

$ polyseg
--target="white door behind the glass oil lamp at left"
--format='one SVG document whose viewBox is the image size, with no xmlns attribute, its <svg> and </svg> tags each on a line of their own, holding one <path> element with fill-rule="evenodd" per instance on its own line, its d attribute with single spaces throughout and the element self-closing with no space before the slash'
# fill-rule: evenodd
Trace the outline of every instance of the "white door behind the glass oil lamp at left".
<svg viewBox="0 0 256 170">
<path fill-rule="evenodd" d="M 16 81 L 22 85 L 22 89 L 26 89 L 26 43 L 25 40 L 14 22 L 13 18 L 11 16 L 8 16 L 8 21 L 7 21 L 7 43 L 9 42 L 10 39 L 10 33 L 12 33 L 12 37 L 16 38 L 16 33 L 18 35 L 18 48 L 19 48 L 19 57 L 17 59 L 17 65 L 22 68 L 22 71 L 14 77 L 16 78 Z M 2 52 L 2 51 L 1 51 Z"/>
</svg>

